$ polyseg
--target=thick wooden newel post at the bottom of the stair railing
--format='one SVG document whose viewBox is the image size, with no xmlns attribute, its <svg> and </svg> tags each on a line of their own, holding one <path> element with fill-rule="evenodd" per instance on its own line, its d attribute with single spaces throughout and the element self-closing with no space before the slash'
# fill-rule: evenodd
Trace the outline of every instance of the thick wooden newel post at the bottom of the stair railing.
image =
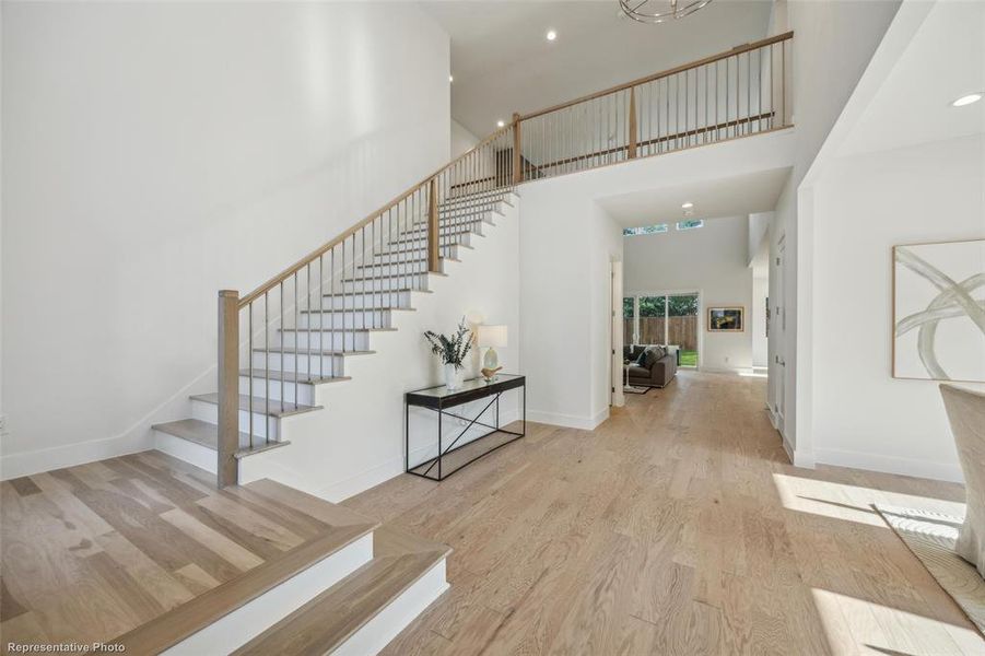
<svg viewBox="0 0 985 656">
<path fill-rule="evenodd" d="M 239 447 L 239 292 L 219 292 L 219 487 L 238 482 Z"/>
</svg>

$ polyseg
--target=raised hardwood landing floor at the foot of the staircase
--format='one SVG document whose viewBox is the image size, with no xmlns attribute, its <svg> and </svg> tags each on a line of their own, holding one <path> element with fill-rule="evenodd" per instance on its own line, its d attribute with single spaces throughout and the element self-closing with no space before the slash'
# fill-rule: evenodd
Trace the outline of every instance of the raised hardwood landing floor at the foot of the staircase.
<svg viewBox="0 0 985 656">
<path fill-rule="evenodd" d="M 0 483 L 0 653 L 125 633 L 128 654 L 157 653 L 376 526 L 272 481 L 214 481 L 144 452 Z"/>
</svg>

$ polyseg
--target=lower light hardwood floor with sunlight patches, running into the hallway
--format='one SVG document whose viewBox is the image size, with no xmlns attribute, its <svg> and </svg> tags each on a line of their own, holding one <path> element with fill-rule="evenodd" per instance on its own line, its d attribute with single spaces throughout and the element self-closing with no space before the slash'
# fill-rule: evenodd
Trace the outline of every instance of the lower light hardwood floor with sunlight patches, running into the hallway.
<svg viewBox="0 0 985 656">
<path fill-rule="evenodd" d="M 788 465 L 765 380 L 683 372 L 595 432 L 528 436 L 443 483 L 345 505 L 450 544 L 412 654 L 983 654 L 869 506 L 953 512 L 960 485 Z"/>
</svg>

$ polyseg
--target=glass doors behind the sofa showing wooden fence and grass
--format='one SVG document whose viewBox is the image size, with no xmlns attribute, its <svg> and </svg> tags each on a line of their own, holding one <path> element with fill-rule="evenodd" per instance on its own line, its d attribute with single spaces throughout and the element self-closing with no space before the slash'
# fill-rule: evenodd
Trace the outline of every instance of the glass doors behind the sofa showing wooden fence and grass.
<svg viewBox="0 0 985 656">
<path fill-rule="evenodd" d="M 668 344 L 680 351 L 680 366 L 697 367 L 699 292 L 635 294 L 623 297 L 623 338 L 633 344 Z"/>
</svg>

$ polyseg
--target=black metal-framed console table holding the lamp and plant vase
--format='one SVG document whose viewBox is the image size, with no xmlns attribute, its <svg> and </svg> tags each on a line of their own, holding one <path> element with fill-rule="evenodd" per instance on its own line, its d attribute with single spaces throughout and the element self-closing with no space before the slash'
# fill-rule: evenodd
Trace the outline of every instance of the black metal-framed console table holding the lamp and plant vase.
<svg viewBox="0 0 985 656">
<path fill-rule="evenodd" d="M 520 432 L 507 431 L 500 427 L 500 397 L 503 393 L 511 389 L 517 389 L 523 397 L 524 411 L 521 415 L 523 427 Z M 449 409 L 458 406 L 489 399 L 489 402 L 476 414 L 469 419 L 449 411 Z M 489 420 L 480 421 L 483 414 L 495 406 L 495 421 L 489 423 Z M 411 407 L 426 408 L 437 413 L 437 455 L 429 458 L 423 462 L 411 465 L 410 462 L 410 409 Z M 516 442 L 527 433 L 527 378 L 526 376 L 516 376 L 513 374 L 500 374 L 494 380 L 486 383 L 483 378 L 471 378 L 455 390 L 448 389 L 445 385 L 436 385 L 434 387 L 425 387 L 424 389 L 415 389 L 408 391 L 403 397 L 403 469 L 407 473 L 420 476 L 432 481 L 442 481 L 462 467 L 470 465 L 496 450 L 501 446 L 506 446 L 511 442 Z M 447 417 L 468 422 L 468 424 L 445 446 L 444 436 L 442 434 L 443 420 Z M 490 429 L 483 435 L 470 437 L 467 442 L 462 442 L 462 437 L 473 426 Z M 499 437 L 499 438 L 497 438 Z M 503 440 L 503 437 L 506 437 Z M 449 458 L 450 456 L 450 458 Z"/>
</svg>

